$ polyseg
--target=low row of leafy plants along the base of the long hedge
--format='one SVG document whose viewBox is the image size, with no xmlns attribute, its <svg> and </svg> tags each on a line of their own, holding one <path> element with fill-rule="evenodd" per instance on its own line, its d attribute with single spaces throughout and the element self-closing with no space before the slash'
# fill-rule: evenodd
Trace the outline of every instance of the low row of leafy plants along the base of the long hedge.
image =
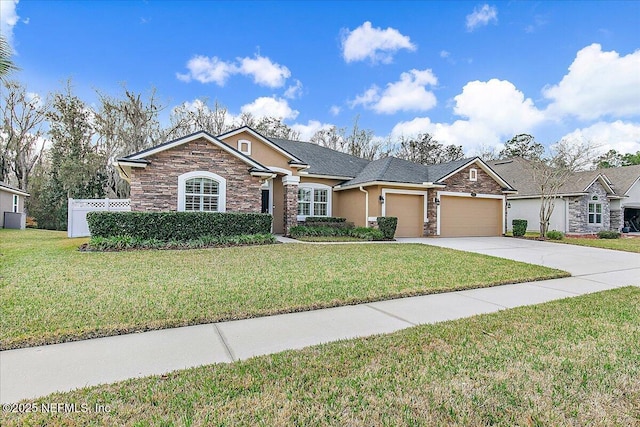
<svg viewBox="0 0 640 427">
<path fill-rule="evenodd" d="M 217 246 L 265 245 L 275 243 L 273 234 L 243 234 L 239 236 L 200 236 L 191 240 L 140 239 L 131 236 L 92 237 L 88 249 L 118 251 L 127 249 L 198 249 Z"/>
</svg>

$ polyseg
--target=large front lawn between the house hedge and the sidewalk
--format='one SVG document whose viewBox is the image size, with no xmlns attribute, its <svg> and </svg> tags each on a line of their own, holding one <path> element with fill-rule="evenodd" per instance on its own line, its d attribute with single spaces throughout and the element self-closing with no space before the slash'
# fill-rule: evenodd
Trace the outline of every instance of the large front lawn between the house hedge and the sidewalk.
<svg viewBox="0 0 640 427">
<path fill-rule="evenodd" d="M 425 245 L 80 252 L 0 230 L 2 349 L 566 276 Z"/>
</svg>

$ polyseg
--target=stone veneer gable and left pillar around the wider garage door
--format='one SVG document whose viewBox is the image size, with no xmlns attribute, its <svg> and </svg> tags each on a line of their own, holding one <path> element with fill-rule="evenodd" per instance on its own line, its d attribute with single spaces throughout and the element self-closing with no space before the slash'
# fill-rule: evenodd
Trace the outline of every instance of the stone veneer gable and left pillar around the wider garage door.
<svg viewBox="0 0 640 427">
<path fill-rule="evenodd" d="M 469 180 L 470 169 L 477 171 L 477 179 L 475 181 Z M 470 165 L 462 169 L 455 175 L 444 180 L 444 183 L 446 184 L 445 188 L 430 188 L 427 190 L 427 197 L 429 198 L 427 203 L 427 219 L 429 221 L 424 224 L 425 236 L 435 236 L 438 231 L 438 207 L 435 204 L 438 191 L 503 195 L 500 184 L 477 165 Z"/>
</svg>

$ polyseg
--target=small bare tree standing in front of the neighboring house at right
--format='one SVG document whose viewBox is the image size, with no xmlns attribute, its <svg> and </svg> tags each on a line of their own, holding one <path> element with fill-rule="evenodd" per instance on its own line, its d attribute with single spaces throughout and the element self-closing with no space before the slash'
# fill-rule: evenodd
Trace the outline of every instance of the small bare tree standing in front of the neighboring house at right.
<svg viewBox="0 0 640 427">
<path fill-rule="evenodd" d="M 532 179 L 540 194 L 540 238 L 544 239 L 561 188 L 577 171 L 591 164 L 595 146 L 591 141 L 563 139 L 549 148 L 546 158 L 529 161 Z"/>
</svg>

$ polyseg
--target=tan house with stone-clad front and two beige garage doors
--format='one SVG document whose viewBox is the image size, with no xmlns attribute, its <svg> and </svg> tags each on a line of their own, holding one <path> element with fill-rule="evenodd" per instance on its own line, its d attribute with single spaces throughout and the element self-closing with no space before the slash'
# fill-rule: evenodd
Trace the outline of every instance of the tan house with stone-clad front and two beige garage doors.
<svg viewBox="0 0 640 427">
<path fill-rule="evenodd" d="M 273 215 L 288 234 L 308 216 L 374 226 L 398 217 L 399 237 L 499 236 L 515 190 L 479 158 L 424 166 L 368 161 L 249 127 L 198 132 L 118 159 L 133 211 L 235 211 Z"/>
</svg>

